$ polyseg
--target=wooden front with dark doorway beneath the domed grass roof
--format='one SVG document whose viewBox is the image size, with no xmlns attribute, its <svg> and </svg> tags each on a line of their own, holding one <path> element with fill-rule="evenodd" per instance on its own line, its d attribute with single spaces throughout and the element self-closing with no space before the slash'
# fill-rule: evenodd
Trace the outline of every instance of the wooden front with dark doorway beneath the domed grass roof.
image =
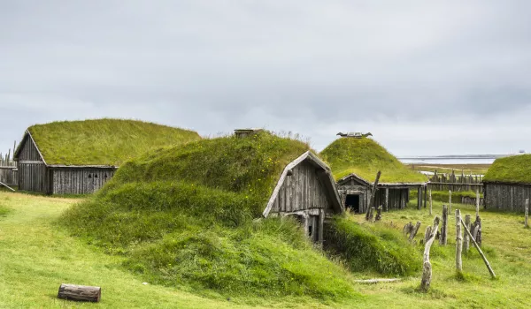
<svg viewBox="0 0 531 309">
<path fill-rule="evenodd" d="M 383 210 L 404 209 L 410 201 L 410 191 L 418 190 L 418 203 L 422 204 L 423 198 L 426 204 L 427 184 L 400 184 L 382 183 L 378 184 L 377 192 L 374 195 L 374 207 L 382 206 Z M 373 183 L 366 181 L 356 174 L 342 177 L 337 182 L 337 188 L 345 209 L 354 213 L 366 212 L 369 199 L 373 192 Z M 424 193 L 424 196 L 423 196 Z"/>
</svg>

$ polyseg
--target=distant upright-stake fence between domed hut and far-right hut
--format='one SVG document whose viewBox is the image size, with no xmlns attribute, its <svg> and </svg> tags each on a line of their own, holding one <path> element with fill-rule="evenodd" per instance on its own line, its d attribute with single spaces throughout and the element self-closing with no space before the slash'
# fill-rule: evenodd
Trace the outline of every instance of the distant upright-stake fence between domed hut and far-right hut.
<svg viewBox="0 0 531 309">
<path fill-rule="evenodd" d="M 473 191 L 478 190 L 483 192 L 483 184 L 481 184 L 481 175 L 465 175 L 461 171 L 460 175 L 456 175 L 455 170 L 452 170 L 450 174 L 438 174 L 435 170 L 435 174 L 429 177 L 429 183 L 427 185 L 428 190 L 433 191 Z"/>
</svg>

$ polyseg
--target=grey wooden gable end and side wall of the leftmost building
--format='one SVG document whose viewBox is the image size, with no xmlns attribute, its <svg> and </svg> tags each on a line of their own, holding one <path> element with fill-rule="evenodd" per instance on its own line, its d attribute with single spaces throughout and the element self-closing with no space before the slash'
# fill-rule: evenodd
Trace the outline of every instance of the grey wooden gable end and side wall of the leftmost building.
<svg viewBox="0 0 531 309">
<path fill-rule="evenodd" d="M 19 167 L 19 190 L 45 194 L 96 192 L 116 170 L 113 166 L 47 164 L 30 132 L 20 142 L 15 160 Z"/>
</svg>

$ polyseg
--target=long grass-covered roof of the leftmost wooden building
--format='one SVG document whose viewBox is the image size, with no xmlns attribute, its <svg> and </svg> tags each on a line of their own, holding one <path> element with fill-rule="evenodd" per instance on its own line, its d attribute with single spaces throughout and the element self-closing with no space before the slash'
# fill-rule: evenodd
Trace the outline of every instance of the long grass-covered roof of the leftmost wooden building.
<svg viewBox="0 0 531 309">
<path fill-rule="evenodd" d="M 119 166 L 153 147 L 200 139 L 196 132 L 136 120 L 94 119 L 28 128 L 48 164 Z"/>
</svg>

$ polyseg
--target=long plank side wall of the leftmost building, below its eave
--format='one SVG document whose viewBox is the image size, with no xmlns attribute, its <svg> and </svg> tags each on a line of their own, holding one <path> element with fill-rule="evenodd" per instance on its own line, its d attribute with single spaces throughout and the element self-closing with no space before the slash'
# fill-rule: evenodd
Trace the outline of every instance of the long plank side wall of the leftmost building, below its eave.
<svg viewBox="0 0 531 309">
<path fill-rule="evenodd" d="M 53 194 L 87 194 L 96 192 L 111 180 L 114 169 L 73 169 L 54 168 L 52 170 Z"/>
</svg>

